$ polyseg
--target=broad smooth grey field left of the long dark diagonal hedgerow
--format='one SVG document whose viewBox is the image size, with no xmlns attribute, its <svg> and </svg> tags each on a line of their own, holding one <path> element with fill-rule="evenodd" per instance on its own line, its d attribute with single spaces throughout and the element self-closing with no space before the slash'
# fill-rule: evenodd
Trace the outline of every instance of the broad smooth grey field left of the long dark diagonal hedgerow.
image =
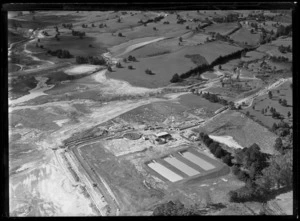
<svg viewBox="0 0 300 221">
<path fill-rule="evenodd" d="M 144 50 L 141 50 L 142 49 L 137 49 L 133 54 L 143 54 Z M 239 47 L 221 42 L 212 42 L 201 46 L 190 46 L 173 53 L 140 58 L 138 62 L 122 63 L 124 68 L 116 68 L 113 72 L 109 73 L 108 76 L 128 81 L 135 86 L 148 88 L 162 87 L 170 84 L 170 79 L 175 73 L 181 74 L 196 67 L 196 64 L 186 56 L 200 55 L 210 64 L 219 56 L 224 56 L 238 50 L 240 50 Z M 131 53 L 128 53 L 128 56 L 129 55 L 131 55 Z M 133 66 L 133 70 L 128 69 L 129 65 Z M 150 69 L 154 75 L 147 75 L 145 73 L 147 68 Z"/>
</svg>

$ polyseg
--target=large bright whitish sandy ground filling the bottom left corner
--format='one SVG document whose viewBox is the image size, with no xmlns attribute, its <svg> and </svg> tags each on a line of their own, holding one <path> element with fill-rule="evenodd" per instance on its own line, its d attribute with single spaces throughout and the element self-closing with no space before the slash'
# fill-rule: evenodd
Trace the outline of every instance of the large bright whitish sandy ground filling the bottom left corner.
<svg viewBox="0 0 300 221">
<path fill-rule="evenodd" d="M 25 164 L 18 172 L 27 171 L 10 177 L 10 212 L 17 216 L 97 215 L 89 206 L 90 200 L 71 185 L 55 158 L 48 159 Z M 27 208 L 22 214 L 16 212 L 21 206 Z"/>
</svg>

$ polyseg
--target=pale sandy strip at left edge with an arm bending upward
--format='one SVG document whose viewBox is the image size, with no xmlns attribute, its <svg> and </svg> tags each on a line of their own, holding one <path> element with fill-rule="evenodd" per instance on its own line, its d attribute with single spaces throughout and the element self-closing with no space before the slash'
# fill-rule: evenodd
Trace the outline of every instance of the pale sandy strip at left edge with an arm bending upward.
<svg viewBox="0 0 300 221">
<path fill-rule="evenodd" d="M 48 78 L 46 77 L 36 77 L 36 79 L 39 81 L 37 86 L 33 88 L 32 90 L 29 91 L 30 94 L 24 95 L 22 97 L 19 97 L 18 99 L 15 100 L 8 100 L 9 106 L 14 106 L 20 103 L 23 103 L 25 101 L 29 101 L 31 99 L 34 99 L 36 97 L 42 96 L 42 95 L 47 95 L 44 93 L 44 91 L 49 90 L 54 87 L 54 85 L 47 85 L 46 81 Z"/>
</svg>

